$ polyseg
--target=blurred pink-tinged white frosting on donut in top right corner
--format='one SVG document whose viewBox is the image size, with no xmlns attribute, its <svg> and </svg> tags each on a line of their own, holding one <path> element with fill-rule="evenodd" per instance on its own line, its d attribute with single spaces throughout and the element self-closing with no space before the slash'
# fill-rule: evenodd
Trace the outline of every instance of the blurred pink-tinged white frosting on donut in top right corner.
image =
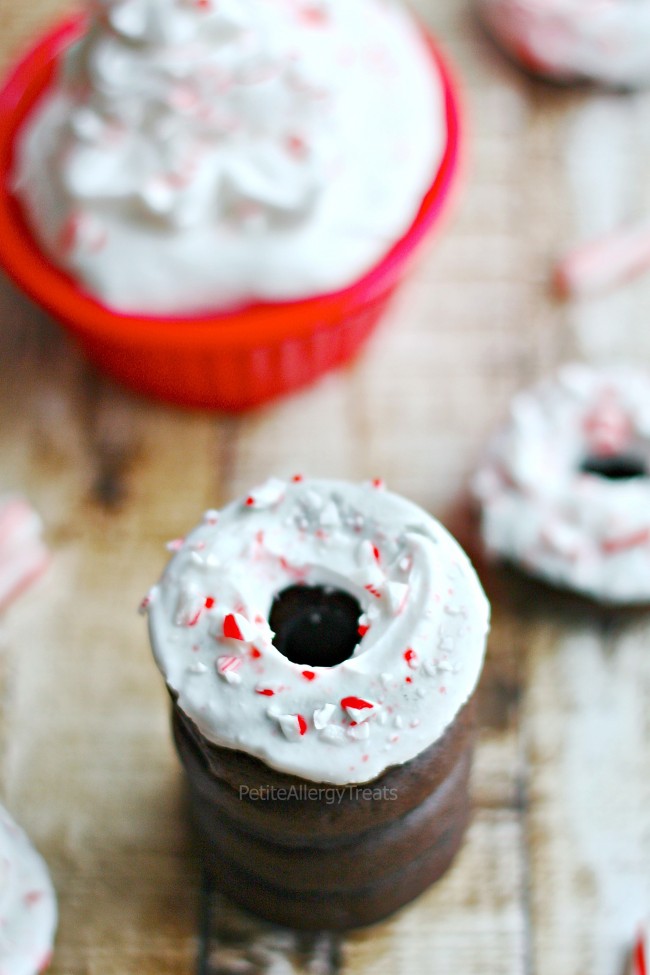
<svg viewBox="0 0 650 975">
<path fill-rule="evenodd" d="M 557 81 L 650 84 L 649 0 L 476 0 L 498 42 Z"/>
</svg>

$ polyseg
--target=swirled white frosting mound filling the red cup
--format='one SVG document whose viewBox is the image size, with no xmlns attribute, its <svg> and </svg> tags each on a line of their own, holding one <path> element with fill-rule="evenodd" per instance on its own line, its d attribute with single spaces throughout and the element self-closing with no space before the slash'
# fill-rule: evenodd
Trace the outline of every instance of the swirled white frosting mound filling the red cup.
<svg viewBox="0 0 650 975">
<path fill-rule="evenodd" d="M 437 67 L 395 0 L 98 0 L 14 184 L 86 290 L 182 315 L 352 283 L 445 144 Z"/>
</svg>

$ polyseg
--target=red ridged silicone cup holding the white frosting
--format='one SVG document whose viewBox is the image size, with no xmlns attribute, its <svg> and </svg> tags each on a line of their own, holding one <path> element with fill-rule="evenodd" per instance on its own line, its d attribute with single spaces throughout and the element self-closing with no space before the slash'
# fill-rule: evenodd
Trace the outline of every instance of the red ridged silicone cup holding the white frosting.
<svg viewBox="0 0 650 975">
<path fill-rule="evenodd" d="M 102 370 L 138 392 L 179 405 L 248 409 L 306 385 L 354 355 L 423 238 L 440 225 L 456 183 L 457 87 L 436 44 L 425 35 L 444 86 L 447 146 L 413 224 L 388 254 L 353 285 L 331 294 L 165 318 L 120 314 L 85 294 L 43 254 L 12 193 L 16 133 L 83 26 L 77 16 L 48 32 L 0 89 L 0 264 L 9 276 L 64 325 Z"/>
</svg>

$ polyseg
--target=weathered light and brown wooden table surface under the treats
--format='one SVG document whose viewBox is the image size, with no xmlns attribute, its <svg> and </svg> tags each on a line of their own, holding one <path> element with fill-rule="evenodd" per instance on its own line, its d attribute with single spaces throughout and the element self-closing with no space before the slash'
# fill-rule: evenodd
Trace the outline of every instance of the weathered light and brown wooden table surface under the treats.
<svg viewBox="0 0 650 975">
<path fill-rule="evenodd" d="M 2 64 L 65 6 L 0 0 Z M 513 392 L 650 356 L 650 276 L 573 304 L 548 287 L 567 244 L 650 213 L 650 95 L 533 82 L 462 0 L 417 6 L 464 82 L 466 185 L 351 367 L 245 417 L 180 412 L 98 377 L 0 283 L 0 491 L 30 498 L 54 556 L 0 622 L 0 791 L 59 892 L 52 975 L 196 969 L 199 868 L 136 613 L 164 541 L 302 471 L 381 476 L 471 550 L 467 478 Z M 462 853 L 388 923 L 298 945 L 306 971 L 622 975 L 650 915 L 650 619 L 480 569 L 494 625 Z M 212 921 L 206 972 L 293 970 L 290 936 L 225 905 Z"/>
</svg>

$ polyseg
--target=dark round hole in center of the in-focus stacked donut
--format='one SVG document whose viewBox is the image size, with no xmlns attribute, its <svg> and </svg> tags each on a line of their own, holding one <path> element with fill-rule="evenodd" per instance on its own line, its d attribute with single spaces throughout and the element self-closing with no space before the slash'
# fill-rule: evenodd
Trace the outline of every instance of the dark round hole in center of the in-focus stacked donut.
<svg viewBox="0 0 650 975">
<path fill-rule="evenodd" d="M 349 592 L 330 586 L 289 586 L 271 606 L 273 645 L 295 664 L 334 667 L 359 643 L 361 606 Z"/>
</svg>

